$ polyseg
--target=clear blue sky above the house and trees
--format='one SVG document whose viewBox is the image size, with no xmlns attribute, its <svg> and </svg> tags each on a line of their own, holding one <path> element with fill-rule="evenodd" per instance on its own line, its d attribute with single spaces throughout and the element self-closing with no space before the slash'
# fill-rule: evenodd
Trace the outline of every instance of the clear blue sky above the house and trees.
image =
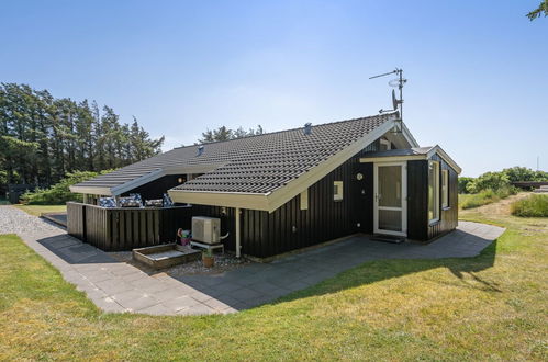
<svg viewBox="0 0 548 362">
<path fill-rule="evenodd" d="M 206 128 L 267 132 L 391 105 L 477 177 L 548 170 L 548 18 L 540 0 L 0 0 L 0 81 L 136 116 L 164 150 Z"/>
</svg>

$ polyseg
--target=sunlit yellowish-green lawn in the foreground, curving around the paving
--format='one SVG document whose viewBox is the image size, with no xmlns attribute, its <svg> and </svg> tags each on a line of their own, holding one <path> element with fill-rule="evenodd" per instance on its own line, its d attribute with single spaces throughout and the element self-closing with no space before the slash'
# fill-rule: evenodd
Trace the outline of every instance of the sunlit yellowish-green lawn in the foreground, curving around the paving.
<svg viewBox="0 0 548 362">
<path fill-rule="evenodd" d="M 0 360 L 546 361 L 548 220 L 484 207 L 462 216 L 507 231 L 479 257 L 367 262 L 227 316 L 103 314 L 0 236 Z"/>
</svg>

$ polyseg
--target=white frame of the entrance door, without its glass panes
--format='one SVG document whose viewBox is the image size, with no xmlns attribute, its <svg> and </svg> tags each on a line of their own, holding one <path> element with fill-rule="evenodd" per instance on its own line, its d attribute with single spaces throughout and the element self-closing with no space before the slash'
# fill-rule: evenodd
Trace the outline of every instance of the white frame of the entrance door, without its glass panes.
<svg viewBox="0 0 548 362">
<path fill-rule="evenodd" d="M 379 167 L 401 166 L 402 170 L 402 207 L 379 206 Z M 402 212 L 402 231 L 383 230 L 379 228 L 379 208 Z M 374 162 L 373 166 L 373 231 L 376 234 L 388 234 L 407 236 L 407 162 Z"/>
</svg>

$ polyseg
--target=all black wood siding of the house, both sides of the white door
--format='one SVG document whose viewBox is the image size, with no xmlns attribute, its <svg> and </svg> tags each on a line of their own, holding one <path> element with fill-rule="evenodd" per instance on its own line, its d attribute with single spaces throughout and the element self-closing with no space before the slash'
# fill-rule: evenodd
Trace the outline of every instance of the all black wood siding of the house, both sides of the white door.
<svg viewBox="0 0 548 362">
<path fill-rule="evenodd" d="M 309 208 L 300 208 L 300 195 L 272 213 L 241 210 L 242 252 L 268 258 L 348 236 L 373 231 L 373 163 L 359 163 L 378 143 L 354 156 L 333 172 L 309 188 Z M 436 160 L 440 160 L 435 157 Z M 428 225 L 428 162 L 407 162 L 407 236 L 428 240 L 457 226 L 457 173 L 440 160 L 440 170 L 449 169 L 449 206 L 440 212 L 440 222 Z M 364 179 L 358 181 L 356 174 Z M 441 180 L 441 176 L 439 177 Z M 344 182 L 343 201 L 333 200 L 333 182 Z M 440 188 L 441 190 L 441 188 Z M 227 250 L 235 250 L 235 208 L 194 205 L 193 215 L 220 217 Z M 358 226 L 359 224 L 359 226 Z"/>
</svg>

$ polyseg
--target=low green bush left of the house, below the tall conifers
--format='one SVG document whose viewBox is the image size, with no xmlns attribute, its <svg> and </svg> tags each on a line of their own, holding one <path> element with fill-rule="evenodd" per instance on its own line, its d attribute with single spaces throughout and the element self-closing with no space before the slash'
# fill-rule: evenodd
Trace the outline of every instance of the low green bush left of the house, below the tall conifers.
<svg viewBox="0 0 548 362">
<path fill-rule="evenodd" d="M 102 171 L 101 174 L 110 171 L 111 170 Z M 100 173 L 91 171 L 76 171 L 67 173 L 65 179 L 60 180 L 49 189 L 37 189 L 35 191 L 25 192 L 21 196 L 21 202 L 29 205 L 61 205 L 67 201 L 82 202 L 82 195 L 71 193 L 69 186 L 92 179 L 98 174 Z"/>
</svg>

